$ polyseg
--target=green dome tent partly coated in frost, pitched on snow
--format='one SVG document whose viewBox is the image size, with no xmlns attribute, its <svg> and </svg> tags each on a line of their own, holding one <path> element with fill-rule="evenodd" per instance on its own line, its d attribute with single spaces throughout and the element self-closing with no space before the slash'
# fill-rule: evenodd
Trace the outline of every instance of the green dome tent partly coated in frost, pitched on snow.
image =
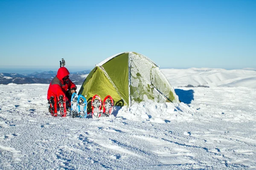
<svg viewBox="0 0 256 170">
<path fill-rule="evenodd" d="M 135 52 L 113 55 L 93 68 L 79 94 L 90 100 L 97 94 L 102 100 L 110 95 L 115 105 L 130 107 L 135 102 L 179 102 L 174 88 L 159 67 Z"/>
</svg>

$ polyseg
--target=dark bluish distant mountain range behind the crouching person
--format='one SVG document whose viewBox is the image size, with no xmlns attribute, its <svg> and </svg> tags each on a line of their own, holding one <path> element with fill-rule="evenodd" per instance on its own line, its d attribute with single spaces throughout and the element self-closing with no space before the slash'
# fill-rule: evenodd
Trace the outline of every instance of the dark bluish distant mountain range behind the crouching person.
<svg viewBox="0 0 256 170">
<path fill-rule="evenodd" d="M 72 72 L 70 73 L 70 79 L 76 85 L 81 85 L 90 71 L 91 70 Z M 32 74 L 0 73 L 0 84 L 49 84 L 56 75 L 56 71 L 34 72 Z"/>
</svg>

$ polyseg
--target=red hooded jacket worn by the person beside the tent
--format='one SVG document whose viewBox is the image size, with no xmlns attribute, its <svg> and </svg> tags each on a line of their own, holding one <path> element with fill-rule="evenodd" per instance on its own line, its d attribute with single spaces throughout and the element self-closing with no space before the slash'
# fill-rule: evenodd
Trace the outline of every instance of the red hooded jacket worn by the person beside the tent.
<svg viewBox="0 0 256 170">
<path fill-rule="evenodd" d="M 65 96 L 66 101 L 67 96 L 65 95 L 68 89 L 76 90 L 76 85 L 68 78 L 67 80 L 63 80 L 64 77 L 68 76 L 70 73 L 65 67 L 61 67 L 58 69 L 57 76 L 52 79 L 52 82 L 49 85 L 47 100 L 50 99 L 51 96 Z"/>
</svg>

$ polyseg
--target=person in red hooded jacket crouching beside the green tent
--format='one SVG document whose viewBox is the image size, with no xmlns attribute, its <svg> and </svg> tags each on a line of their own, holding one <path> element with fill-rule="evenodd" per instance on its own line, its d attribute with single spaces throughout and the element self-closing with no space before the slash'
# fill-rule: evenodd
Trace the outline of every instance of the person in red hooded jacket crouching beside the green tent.
<svg viewBox="0 0 256 170">
<path fill-rule="evenodd" d="M 57 75 L 49 85 L 47 100 L 49 101 L 51 97 L 55 99 L 53 116 L 57 116 L 57 97 L 62 95 L 66 99 L 66 106 L 70 107 L 71 96 L 73 93 L 76 93 L 76 85 L 69 79 L 69 74 L 67 68 L 59 68 Z"/>
</svg>

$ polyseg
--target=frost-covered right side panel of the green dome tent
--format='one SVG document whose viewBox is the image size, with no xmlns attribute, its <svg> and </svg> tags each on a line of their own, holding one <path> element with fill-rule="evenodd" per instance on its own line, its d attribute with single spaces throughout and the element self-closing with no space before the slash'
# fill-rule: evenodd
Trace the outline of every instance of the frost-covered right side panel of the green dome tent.
<svg viewBox="0 0 256 170">
<path fill-rule="evenodd" d="M 129 54 L 129 59 L 131 104 L 149 100 L 161 103 L 174 100 L 174 89 L 154 62 L 134 52 Z"/>
</svg>

